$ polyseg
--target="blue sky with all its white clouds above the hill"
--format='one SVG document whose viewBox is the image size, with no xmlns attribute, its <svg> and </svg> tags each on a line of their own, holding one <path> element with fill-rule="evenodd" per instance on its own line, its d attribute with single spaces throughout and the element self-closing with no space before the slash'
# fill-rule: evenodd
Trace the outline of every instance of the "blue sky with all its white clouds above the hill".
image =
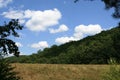
<svg viewBox="0 0 120 80">
<path fill-rule="evenodd" d="M 101 0 L 0 0 L 0 25 L 19 19 L 24 29 L 17 31 L 19 38 L 10 39 L 21 55 L 30 55 L 116 27 L 118 19 L 111 16 L 113 12 L 105 10 Z"/>
</svg>

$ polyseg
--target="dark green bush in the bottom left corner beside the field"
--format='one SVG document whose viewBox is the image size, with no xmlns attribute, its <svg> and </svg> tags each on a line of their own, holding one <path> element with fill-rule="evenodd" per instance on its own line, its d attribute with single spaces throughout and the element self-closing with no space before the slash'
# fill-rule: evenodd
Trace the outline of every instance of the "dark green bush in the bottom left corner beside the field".
<svg viewBox="0 0 120 80">
<path fill-rule="evenodd" d="M 0 59 L 0 80 L 20 80 L 17 73 L 6 60 Z"/>
</svg>

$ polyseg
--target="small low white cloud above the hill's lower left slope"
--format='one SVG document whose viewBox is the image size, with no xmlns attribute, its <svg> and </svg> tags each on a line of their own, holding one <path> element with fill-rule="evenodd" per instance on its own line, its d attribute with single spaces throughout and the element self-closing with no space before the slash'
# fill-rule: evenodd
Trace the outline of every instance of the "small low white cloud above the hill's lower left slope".
<svg viewBox="0 0 120 80">
<path fill-rule="evenodd" d="M 48 45 L 47 41 L 40 41 L 38 43 L 33 43 L 31 45 L 32 48 L 36 48 L 36 49 L 43 49 L 43 48 L 46 48 L 48 46 L 49 45 Z"/>
</svg>

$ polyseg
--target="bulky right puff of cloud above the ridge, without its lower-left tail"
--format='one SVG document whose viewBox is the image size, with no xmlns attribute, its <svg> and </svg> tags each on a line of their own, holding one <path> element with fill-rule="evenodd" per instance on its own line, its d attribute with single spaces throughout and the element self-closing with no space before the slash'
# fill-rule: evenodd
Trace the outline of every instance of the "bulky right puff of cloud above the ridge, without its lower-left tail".
<svg viewBox="0 0 120 80">
<path fill-rule="evenodd" d="M 95 35 L 100 33 L 103 29 L 99 24 L 79 25 L 74 29 L 73 36 L 78 39 L 82 39 L 86 35 Z"/>
</svg>

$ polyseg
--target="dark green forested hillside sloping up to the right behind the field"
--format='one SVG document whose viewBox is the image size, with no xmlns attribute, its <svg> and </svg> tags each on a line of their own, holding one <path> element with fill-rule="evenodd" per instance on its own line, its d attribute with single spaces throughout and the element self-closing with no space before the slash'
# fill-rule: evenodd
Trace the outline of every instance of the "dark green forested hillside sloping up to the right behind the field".
<svg viewBox="0 0 120 80">
<path fill-rule="evenodd" d="M 53 45 L 29 56 L 7 59 L 11 63 L 107 64 L 111 58 L 120 62 L 120 26 L 79 41 Z"/>
</svg>

